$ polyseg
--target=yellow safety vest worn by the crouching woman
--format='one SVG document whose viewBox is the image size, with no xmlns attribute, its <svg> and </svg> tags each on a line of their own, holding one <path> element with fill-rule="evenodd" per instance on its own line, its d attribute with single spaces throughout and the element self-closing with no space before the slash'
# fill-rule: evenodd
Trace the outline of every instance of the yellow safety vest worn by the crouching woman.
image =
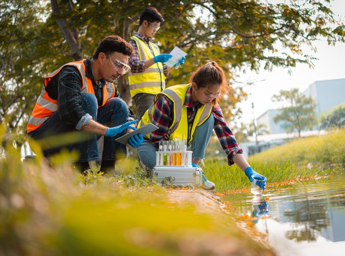
<svg viewBox="0 0 345 256">
<path fill-rule="evenodd" d="M 193 140 L 195 128 L 203 124 L 211 115 L 213 105 L 212 103 L 201 106 L 196 114 L 192 125 L 188 125 L 187 108 L 183 107 L 186 98 L 187 89 L 191 83 L 179 84 L 177 86 L 169 87 L 156 95 L 155 101 L 163 94 L 174 103 L 174 119 L 168 128 L 168 134 L 165 139 L 174 140 L 174 138 L 181 139 L 182 137 L 190 143 Z M 155 103 L 145 112 L 143 118 L 139 122 L 139 127 L 152 122 L 152 115 L 155 109 Z M 145 135 L 146 139 L 150 138 L 150 134 Z"/>
</svg>

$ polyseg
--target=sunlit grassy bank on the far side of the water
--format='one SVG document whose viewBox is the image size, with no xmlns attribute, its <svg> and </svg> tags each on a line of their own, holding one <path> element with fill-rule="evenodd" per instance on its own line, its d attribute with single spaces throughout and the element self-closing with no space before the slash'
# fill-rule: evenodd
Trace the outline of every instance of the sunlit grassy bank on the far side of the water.
<svg viewBox="0 0 345 256">
<path fill-rule="evenodd" d="M 345 162 L 345 129 L 323 136 L 296 139 L 256 154 L 248 161 L 258 173 L 267 177 L 268 186 L 273 182 L 327 176 L 334 167 L 323 163 Z M 244 173 L 237 166 L 228 166 L 225 160 L 206 160 L 205 175 L 217 184 L 217 191 L 250 185 Z"/>
</svg>

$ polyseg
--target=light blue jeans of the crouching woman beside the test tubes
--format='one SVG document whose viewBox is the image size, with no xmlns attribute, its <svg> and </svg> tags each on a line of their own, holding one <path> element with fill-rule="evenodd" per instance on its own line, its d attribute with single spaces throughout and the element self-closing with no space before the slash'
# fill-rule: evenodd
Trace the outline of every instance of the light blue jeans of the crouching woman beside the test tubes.
<svg viewBox="0 0 345 256">
<path fill-rule="evenodd" d="M 193 151 L 192 158 L 203 159 L 205 150 L 209 145 L 209 141 L 212 135 L 213 126 L 215 124 L 215 117 L 213 114 L 203 124 L 197 126 L 193 140 L 189 143 L 188 148 Z M 136 152 L 140 160 L 145 164 L 146 167 L 152 170 L 153 166 L 156 165 L 156 151 L 157 148 L 150 143 L 148 140 L 144 140 L 142 145 L 136 148 Z"/>
</svg>

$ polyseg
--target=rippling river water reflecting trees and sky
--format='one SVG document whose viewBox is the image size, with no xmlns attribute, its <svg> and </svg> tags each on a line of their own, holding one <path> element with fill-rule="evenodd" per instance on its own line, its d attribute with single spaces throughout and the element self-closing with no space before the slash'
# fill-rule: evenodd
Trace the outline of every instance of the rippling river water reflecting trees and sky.
<svg viewBox="0 0 345 256">
<path fill-rule="evenodd" d="M 228 194 L 237 216 L 262 233 L 278 255 L 345 255 L 345 171 L 264 191 Z"/>
</svg>

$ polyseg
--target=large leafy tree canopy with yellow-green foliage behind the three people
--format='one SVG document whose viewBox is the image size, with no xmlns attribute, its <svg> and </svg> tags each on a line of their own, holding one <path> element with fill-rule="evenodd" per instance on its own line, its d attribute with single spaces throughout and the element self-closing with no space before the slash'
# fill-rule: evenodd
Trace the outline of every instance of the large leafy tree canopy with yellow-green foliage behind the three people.
<svg viewBox="0 0 345 256">
<path fill-rule="evenodd" d="M 171 73 L 168 86 L 186 83 L 200 64 L 217 60 L 228 76 L 235 68 L 249 66 L 271 70 L 273 66 L 313 66 L 302 45 L 325 38 L 330 45 L 344 41 L 344 26 L 329 9 L 331 1 L 294 0 L 288 4 L 262 1 L 28 1 L 0 3 L 0 117 L 9 130 L 24 134 L 42 77 L 62 64 L 91 56 L 100 39 L 109 34 L 129 38 L 137 30 L 137 18 L 155 6 L 165 23 L 155 40 L 162 52 L 178 46 L 188 53 L 185 65 Z M 54 9 L 52 8 L 54 7 Z M 54 12 L 53 12 L 54 10 Z M 286 51 L 278 52 L 277 45 Z M 130 101 L 124 78 L 121 97 Z M 232 109 L 245 96 L 235 92 L 221 103 Z M 225 112 L 229 112 L 226 110 Z M 231 117 L 229 112 L 229 118 Z M 228 117 L 227 117 L 228 119 Z"/>
</svg>

